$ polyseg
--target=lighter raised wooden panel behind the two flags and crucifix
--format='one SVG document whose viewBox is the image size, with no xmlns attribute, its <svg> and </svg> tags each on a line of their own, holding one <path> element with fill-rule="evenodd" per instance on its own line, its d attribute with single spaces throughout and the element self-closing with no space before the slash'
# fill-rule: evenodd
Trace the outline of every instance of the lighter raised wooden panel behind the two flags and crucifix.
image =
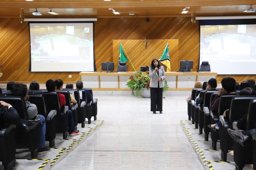
<svg viewBox="0 0 256 170">
<path fill-rule="evenodd" d="M 136 71 L 140 66 L 150 66 L 153 58 L 159 59 L 166 44 L 169 44 L 169 55 L 171 56 L 171 68 L 176 65 L 175 59 L 178 58 L 179 40 L 147 40 L 146 49 L 143 40 L 113 40 L 113 62 L 117 70 L 119 62 L 119 43 L 121 43 L 130 58 Z M 130 62 L 126 62 L 127 71 L 134 71 Z M 164 67 L 165 68 L 165 67 Z"/>
</svg>

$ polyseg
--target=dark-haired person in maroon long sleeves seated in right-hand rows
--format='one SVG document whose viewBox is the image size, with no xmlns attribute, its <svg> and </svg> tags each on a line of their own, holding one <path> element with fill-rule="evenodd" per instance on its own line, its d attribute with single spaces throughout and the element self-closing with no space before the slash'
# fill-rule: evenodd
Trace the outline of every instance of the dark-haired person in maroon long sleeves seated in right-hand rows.
<svg viewBox="0 0 256 170">
<path fill-rule="evenodd" d="M 232 94 L 236 93 L 236 81 L 232 77 L 225 77 L 221 80 L 222 88 L 219 90 L 218 94 L 216 95 L 215 99 L 212 101 L 210 110 L 211 111 L 218 111 L 219 109 L 219 100 L 220 96 L 223 94 Z M 208 125 L 208 127 L 214 131 L 218 131 L 220 128 L 220 122 L 216 124 Z"/>
</svg>

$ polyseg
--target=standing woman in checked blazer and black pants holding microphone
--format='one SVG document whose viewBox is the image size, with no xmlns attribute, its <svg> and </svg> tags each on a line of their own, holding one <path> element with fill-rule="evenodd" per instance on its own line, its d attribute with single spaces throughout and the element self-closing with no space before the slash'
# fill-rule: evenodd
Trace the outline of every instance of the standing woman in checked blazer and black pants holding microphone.
<svg viewBox="0 0 256 170">
<path fill-rule="evenodd" d="M 150 110 L 153 114 L 156 114 L 156 111 L 163 113 L 163 87 L 165 72 L 164 67 L 160 65 L 158 59 L 154 58 L 149 67 L 149 76 L 150 80 L 150 99 L 151 107 Z"/>
</svg>

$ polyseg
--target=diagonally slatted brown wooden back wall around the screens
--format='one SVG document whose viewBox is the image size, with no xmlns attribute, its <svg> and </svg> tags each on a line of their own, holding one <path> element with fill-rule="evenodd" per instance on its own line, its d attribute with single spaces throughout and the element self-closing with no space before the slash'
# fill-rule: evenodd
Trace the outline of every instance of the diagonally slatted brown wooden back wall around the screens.
<svg viewBox="0 0 256 170">
<path fill-rule="evenodd" d="M 179 70 L 180 60 L 193 60 L 198 69 L 199 27 L 189 17 L 176 18 L 98 18 L 94 24 L 94 53 L 96 71 L 101 71 L 101 62 L 113 61 L 113 40 L 178 40 L 178 54 L 170 55 L 172 71 Z M 162 47 L 159 47 L 162 48 Z M 170 47 L 169 47 L 170 48 Z M 119 51 L 119 48 L 117 48 Z M 128 49 L 126 49 L 128 50 Z M 118 51 L 116 51 L 118 53 Z M 158 54 L 156 54 L 157 56 Z M 151 60 L 152 58 L 150 58 Z M 147 65 L 140 61 L 138 65 Z M 40 81 L 61 78 L 64 82 L 80 80 L 79 72 L 29 72 L 30 42 L 29 27 L 20 24 L 18 18 L 0 18 L 0 64 L 3 77 L 0 81 Z M 72 78 L 68 78 L 72 75 Z M 218 81 L 226 76 L 218 76 Z M 255 75 L 235 75 L 238 82 Z"/>
</svg>

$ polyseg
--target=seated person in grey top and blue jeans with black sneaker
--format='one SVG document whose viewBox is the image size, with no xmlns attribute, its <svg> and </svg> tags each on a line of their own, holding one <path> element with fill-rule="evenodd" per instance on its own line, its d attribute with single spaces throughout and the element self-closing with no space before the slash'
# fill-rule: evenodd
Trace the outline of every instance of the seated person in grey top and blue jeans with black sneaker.
<svg viewBox="0 0 256 170">
<path fill-rule="evenodd" d="M 24 97 L 28 112 L 28 118 L 29 120 L 32 120 L 37 115 L 37 107 L 35 104 L 32 104 L 28 101 L 29 96 L 27 95 L 27 85 L 16 83 L 13 85 L 11 93 L 13 96 L 20 96 Z M 45 152 L 49 152 L 51 150 L 50 147 L 45 146 L 45 131 L 46 131 L 46 125 L 45 125 L 45 117 L 43 115 L 40 116 L 40 139 L 39 139 L 39 148 L 38 148 L 38 154 L 42 154 Z"/>
</svg>

